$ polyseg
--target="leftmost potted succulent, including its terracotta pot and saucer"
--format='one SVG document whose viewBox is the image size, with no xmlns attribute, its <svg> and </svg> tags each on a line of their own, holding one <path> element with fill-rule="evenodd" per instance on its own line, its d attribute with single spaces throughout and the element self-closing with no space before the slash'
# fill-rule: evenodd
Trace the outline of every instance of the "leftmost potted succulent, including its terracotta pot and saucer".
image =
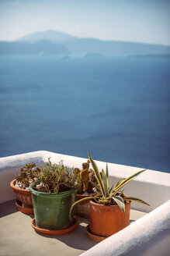
<svg viewBox="0 0 170 256">
<path fill-rule="evenodd" d="M 28 163 L 20 169 L 19 175 L 16 179 L 12 180 L 10 186 L 16 194 L 16 206 L 20 212 L 26 214 L 33 214 L 33 202 L 29 185 L 38 179 L 40 169 L 36 168 L 36 164 Z"/>
</svg>

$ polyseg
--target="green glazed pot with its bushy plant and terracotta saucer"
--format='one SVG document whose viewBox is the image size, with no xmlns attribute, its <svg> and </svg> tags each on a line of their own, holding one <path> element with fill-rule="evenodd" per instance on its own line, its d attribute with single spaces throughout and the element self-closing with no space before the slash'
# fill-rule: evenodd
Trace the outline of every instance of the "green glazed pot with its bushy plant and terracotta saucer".
<svg viewBox="0 0 170 256">
<path fill-rule="evenodd" d="M 77 220 L 69 219 L 69 210 L 75 202 L 77 187 L 73 169 L 63 162 L 52 165 L 49 158 L 39 180 L 29 186 L 35 215 L 32 226 L 37 232 L 61 234 L 75 228 Z"/>
</svg>

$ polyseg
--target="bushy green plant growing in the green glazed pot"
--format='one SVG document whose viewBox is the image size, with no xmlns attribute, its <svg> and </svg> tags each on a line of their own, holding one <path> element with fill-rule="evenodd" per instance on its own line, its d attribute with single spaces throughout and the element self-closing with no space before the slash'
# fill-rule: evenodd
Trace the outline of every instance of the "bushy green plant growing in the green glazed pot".
<svg viewBox="0 0 170 256">
<path fill-rule="evenodd" d="M 38 180 L 40 180 L 40 184 L 36 185 L 34 189 L 40 192 L 59 193 L 78 187 L 73 168 L 64 166 L 62 161 L 58 165 L 52 165 L 50 158 L 45 167 L 41 169 Z"/>
</svg>

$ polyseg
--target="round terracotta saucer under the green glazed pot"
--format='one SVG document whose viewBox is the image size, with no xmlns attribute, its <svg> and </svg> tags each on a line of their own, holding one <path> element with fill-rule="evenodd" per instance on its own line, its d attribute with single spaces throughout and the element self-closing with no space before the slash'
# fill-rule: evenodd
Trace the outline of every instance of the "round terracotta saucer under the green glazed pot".
<svg viewBox="0 0 170 256">
<path fill-rule="evenodd" d="M 63 235 L 65 233 L 70 232 L 71 230 L 75 229 L 75 227 L 78 225 L 78 220 L 74 218 L 74 222 L 72 226 L 69 226 L 69 228 L 61 229 L 61 230 L 50 230 L 50 229 L 40 229 L 36 226 L 35 218 L 31 221 L 31 226 L 33 226 L 33 229 L 36 230 L 38 233 L 43 233 L 46 235 Z"/>
</svg>

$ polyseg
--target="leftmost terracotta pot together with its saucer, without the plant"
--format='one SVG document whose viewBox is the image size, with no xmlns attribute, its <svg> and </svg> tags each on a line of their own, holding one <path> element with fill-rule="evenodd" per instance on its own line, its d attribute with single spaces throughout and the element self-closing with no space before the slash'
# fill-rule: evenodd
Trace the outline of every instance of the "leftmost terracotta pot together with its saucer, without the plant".
<svg viewBox="0 0 170 256">
<path fill-rule="evenodd" d="M 31 197 L 31 192 L 29 190 L 23 190 L 15 186 L 16 180 L 12 180 L 10 186 L 13 192 L 16 194 L 16 206 L 20 212 L 26 214 L 33 214 L 33 201 Z"/>
</svg>

